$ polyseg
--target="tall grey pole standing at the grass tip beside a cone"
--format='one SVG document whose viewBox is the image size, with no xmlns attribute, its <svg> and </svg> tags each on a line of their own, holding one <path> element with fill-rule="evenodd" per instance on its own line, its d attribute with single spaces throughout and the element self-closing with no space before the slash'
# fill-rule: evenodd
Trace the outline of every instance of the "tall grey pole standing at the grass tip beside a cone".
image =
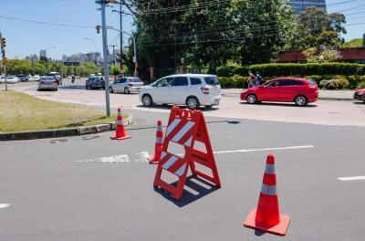
<svg viewBox="0 0 365 241">
<path fill-rule="evenodd" d="M 102 40 L 103 40 L 103 58 L 104 58 L 104 79 L 105 79 L 105 105 L 107 110 L 107 116 L 110 117 L 110 96 L 109 96 L 109 65 L 108 65 L 108 36 L 107 36 L 107 20 L 105 16 L 105 7 L 110 3 L 115 3 L 115 0 L 97 0 L 95 3 L 101 5 L 101 30 L 102 30 Z M 100 26 L 97 26 L 97 31 L 99 31 Z"/>
</svg>

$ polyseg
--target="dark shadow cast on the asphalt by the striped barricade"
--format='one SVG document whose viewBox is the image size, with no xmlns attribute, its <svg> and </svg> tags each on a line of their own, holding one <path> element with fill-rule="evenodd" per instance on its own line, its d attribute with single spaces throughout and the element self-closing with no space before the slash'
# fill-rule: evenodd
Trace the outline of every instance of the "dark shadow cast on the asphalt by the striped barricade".
<svg viewBox="0 0 365 241">
<path fill-rule="evenodd" d="M 177 182 L 172 183 L 172 185 L 176 185 L 176 183 Z M 196 194 L 193 194 L 186 190 L 186 187 L 193 190 L 193 192 Z M 213 183 L 209 183 L 198 176 L 191 175 L 186 178 L 186 183 L 183 189 L 183 198 L 180 201 L 176 201 L 171 194 L 165 192 L 161 188 L 155 187 L 154 190 L 156 193 L 162 194 L 164 198 L 166 198 L 173 204 L 179 207 L 183 207 L 187 204 L 193 203 L 194 201 L 202 198 L 207 194 L 212 194 L 214 191 L 218 190 L 218 188 L 216 188 Z"/>
</svg>

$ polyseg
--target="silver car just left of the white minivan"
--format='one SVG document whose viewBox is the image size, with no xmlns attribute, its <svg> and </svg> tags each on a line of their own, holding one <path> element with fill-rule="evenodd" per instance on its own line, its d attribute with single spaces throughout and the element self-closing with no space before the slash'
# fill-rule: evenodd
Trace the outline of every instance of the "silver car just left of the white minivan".
<svg viewBox="0 0 365 241">
<path fill-rule="evenodd" d="M 137 77 L 124 77 L 115 79 L 110 84 L 110 93 L 123 92 L 124 94 L 130 94 L 130 92 L 138 92 L 143 86 L 143 81 Z"/>
</svg>

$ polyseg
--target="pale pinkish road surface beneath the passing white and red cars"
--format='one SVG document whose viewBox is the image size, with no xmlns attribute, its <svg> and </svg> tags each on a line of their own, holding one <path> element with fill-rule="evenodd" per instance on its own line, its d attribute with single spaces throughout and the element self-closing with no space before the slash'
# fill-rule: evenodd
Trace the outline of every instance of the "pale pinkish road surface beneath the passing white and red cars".
<svg viewBox="0 0 365 241">
<path fill-rule="evenodd" d="M 22 83 L 11 88 L 45 100 L 55 100 L 105 109 L 103 90 L 85 89 L 85 79 L 78 79 L 71 84 L 69 79 L 58 91 L 36 91 L 36 83 Z M 143 110 L 168 113 L 169 107 L 154 106 L 144 108 L 138 94 L 110 94 L 110 106 L 121 107 L 126 111 Z M 211 117 L 230 117 L 257 121 L 286 121 L 338 126 L 365 126 L 365 103 L 361 101 L 318 100 L 307 107 L 297 107 L 293 103 L 262 103 L 249 105 L 236 96 L 224 96 L 220 105 L 210 110 L 203 109 Z"/>
</svg>

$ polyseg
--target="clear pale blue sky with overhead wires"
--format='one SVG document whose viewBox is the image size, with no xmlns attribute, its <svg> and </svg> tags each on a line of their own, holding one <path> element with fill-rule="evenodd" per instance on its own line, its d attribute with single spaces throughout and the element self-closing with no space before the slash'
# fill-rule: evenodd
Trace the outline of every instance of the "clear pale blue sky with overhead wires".
<svg viewBox="0 0 365 241">
<path fill-rule="evenodd" d="M 346 40 L 360 38 L 365 33 L 365 0 L 327 0 L 328 13 L 344 14 L 348 23 Z M 95 26 L 101 23 L 99 5 L 94 0 L 0 0 L 0 32 L 6 38 L 6 55 L 9 58 L 25 58 L 30 54 L 39 55 L 47 49 L 48 58 L 62 58 L 63 55 L 87 53 L 101 49 L 101 34 Z M 119 5 L 114 6 L 119 10 Z M 119 14 L 107 8 L 107 26 L 120 28 Z M 124 9 L 128 12 L 127 9 Z M 73 25 L 51 26 L 35 22 Z M 131 16 L 123 16 L 123 30 L 133 30 Z M 98 47 L 95 47 L 89 37 Z M 124 36 L 127 45 L 128 36 Z M 119 33 L 108 31 L 109 45 L 120 46 Z M 111 47 L 110 47 L 111 50 Z"/>
</svg>

